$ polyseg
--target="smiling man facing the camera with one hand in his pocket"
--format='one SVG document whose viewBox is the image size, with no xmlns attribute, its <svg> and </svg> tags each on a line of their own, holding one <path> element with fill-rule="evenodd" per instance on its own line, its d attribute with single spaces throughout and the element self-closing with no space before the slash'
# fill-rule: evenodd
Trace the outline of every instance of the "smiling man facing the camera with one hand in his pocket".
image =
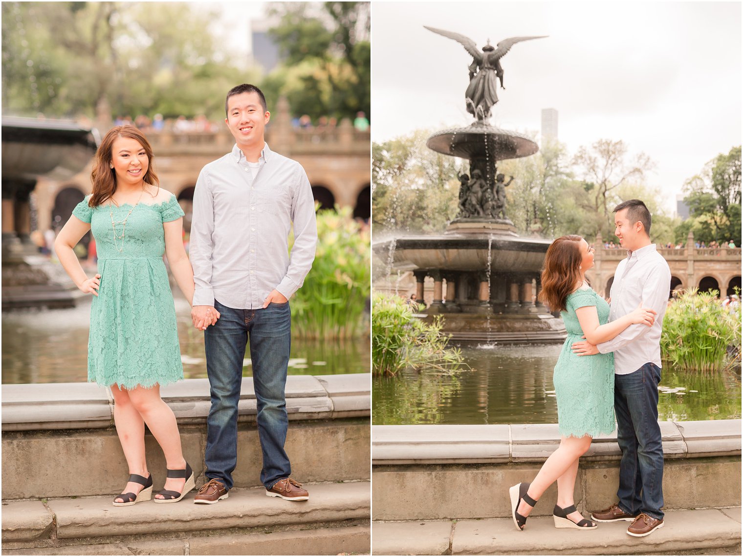
<svg viewBox="0 0 743 557">
<path fill-rule="evenodd" d="M 302 286 L 314 260 L 314 199 L 302 166 L 265 143 L 270 113 L 259 88 L 244 84 L 231 89 L 225 111 L 236 145 L 201 170 L 193 198 L 192 318 L 194 326 L 205 329 L 212 397 L 205 452 L 209 481 L 195 503 L 216 503 L 233 486 L 248 339 L 263 452 L 261 482 L 267 495 L 306 500 L 308 492 L 290 477 L 284 451 L 285 385 L 291 344 L 288 299 Z"/>
</svg>

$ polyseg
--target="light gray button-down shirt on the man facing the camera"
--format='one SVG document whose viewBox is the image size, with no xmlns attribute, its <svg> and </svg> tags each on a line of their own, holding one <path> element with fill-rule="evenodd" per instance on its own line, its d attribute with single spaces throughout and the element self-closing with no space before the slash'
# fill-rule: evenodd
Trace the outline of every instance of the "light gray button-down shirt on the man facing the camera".
<svg viewBox="0 0 743 557">
<path fill-rule="evenodd" d="M 305 170 L 267 144 L 259 164 L 253 178 L 236 144 L 198 175 L 190 240 L 194 306 L 218 300 L 259 309 L 273 289 L 291 297 L 312 267 L 317 225 Z"/>
</svg>

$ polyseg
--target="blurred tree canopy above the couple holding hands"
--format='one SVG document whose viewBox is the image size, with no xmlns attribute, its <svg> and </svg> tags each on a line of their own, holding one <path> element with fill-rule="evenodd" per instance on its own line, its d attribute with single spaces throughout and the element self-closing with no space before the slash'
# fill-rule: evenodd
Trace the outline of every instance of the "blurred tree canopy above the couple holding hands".
<svg viewBox="0 0 743 557">
<path fill-rule="evenodd" d="M 222 46 L 215 7 L 188 2 L 3 2 L 4 114 L 224 117 L 224 94 L 256 83 L 297 115 L 370 109 L 368 2 L 279 3 L 286 59 L 262 76 Z M 245 30 L 247 33 L 247 29 Z"/>
</svg>

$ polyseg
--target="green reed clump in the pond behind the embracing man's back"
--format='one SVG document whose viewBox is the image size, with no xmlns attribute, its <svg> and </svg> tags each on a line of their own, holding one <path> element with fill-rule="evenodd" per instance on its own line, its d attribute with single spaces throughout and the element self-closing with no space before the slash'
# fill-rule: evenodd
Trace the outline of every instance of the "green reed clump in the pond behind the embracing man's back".
<svg viewBox="0 0 743 557">
<path fill-rule="evenodd" d="M 740 309 L 727 309 L 717 292 L 681 292 L 663 318 L 663 360 L 678 370 L 718 371 L 741 351 Z"/>
</svg>

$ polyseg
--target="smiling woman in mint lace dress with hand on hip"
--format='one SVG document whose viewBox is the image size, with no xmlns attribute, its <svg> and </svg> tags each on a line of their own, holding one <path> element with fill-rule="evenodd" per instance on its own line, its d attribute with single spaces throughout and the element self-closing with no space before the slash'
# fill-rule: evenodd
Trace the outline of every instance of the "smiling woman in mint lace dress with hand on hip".
<svg viewBox="0 0 743 557">
<path fill-rule="evenodd" d="M 160 397 L 160 385 L 183 379 L 163 254 L 190 303 L 194 284 L 182 240 L 184 213 L 175 196 L 158 187 L 152 147 L 134 126 L 117 126 L 106 134 L 91 178 L 93 193 L 75 207 L 54 245 L 78 288 L 94 296 L 88 381 L 111 387 L 116 430 L 131 474 L 114 506 L 152 498 L 145 424 L 160 443 L 168 468 L 166 489 L 155 501 L 172 503 L 194 487 L 175 415 Z M 92 278 L 73 251 L 89 230 L 98 251 L 98 273 Z M 212 323 L 199 323 L 202 328 L 207 324 Z"/>
</svg>

